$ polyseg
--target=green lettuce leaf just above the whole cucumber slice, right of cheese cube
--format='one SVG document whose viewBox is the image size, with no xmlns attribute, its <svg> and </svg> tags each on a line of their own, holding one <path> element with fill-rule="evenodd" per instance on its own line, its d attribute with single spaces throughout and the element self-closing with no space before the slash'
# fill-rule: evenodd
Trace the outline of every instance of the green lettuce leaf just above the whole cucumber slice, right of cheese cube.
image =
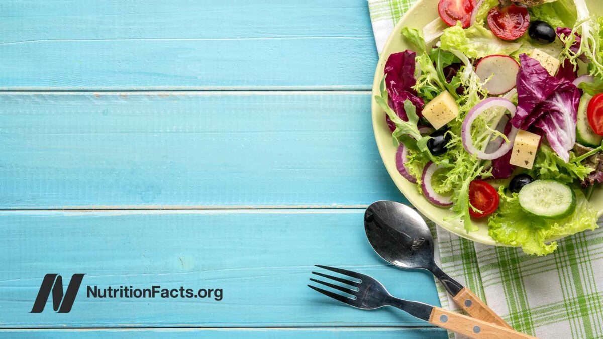
<svg viewBox="0 0 603 339">
<path fill-rule="evenodd" d="M 542 144 L 538 148 L 534 167 L 529 175 L 538 179 L 554 179 L 569 184 L 575 180 L 584 180 L 592 171 L 595 171 L 589 166 L 576 162 L 575 159 L 575 154 L 570 152 L 570 160 L 565 162 L 551 147 Z"/>
</svg>

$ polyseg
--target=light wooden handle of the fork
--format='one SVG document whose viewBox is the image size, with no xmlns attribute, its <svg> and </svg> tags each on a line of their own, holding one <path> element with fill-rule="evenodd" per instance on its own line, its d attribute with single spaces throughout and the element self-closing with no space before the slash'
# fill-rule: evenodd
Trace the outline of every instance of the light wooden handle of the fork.
<svg viewBox="0 0 603 339">
<path fill-rule="evenodd" d="M 434 307 L 431 311 L 429 323 L 473 339 L 534 339 L 513 329 L 496 326 L 439 307 Z"/>
</svg>

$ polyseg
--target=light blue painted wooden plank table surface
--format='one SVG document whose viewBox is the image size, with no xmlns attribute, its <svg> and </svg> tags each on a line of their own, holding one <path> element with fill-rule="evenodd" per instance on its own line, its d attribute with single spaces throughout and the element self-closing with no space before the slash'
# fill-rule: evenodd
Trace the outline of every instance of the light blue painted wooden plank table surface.
<svg viewBox="0 0 603 339">
<path fill-rule="evenodd" d="M 336 265 L 439 304 L 364 235 L 368 204 L 403 201 L 373 139 L 365 0 L 5 0 L 0 16 L 0 337 L 446 337 L 306 287 Z M 30 313 L 47 273 L 66 291 L 86 273 L 71 312 Z"/>
</svg>

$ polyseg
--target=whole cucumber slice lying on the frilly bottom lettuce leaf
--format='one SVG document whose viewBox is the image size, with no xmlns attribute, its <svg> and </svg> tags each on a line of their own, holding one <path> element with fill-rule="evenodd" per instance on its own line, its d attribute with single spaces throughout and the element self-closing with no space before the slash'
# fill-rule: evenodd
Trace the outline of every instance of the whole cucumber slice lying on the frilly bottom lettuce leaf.
<svg viewBox="0 0 603 339">
<path fill-rule="evenodd" d="M 545 219 L 561 219 L 576 209 L 576 193 L 555 180 L 535 180 L 519 191 L 519 204 L 529 214 Z"/>
</svg>

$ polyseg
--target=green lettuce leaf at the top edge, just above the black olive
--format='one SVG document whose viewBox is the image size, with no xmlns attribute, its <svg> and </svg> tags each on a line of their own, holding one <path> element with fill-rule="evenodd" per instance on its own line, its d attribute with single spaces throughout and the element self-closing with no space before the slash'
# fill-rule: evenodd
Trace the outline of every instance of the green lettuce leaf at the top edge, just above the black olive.
<svg viewBox="0 0 603 339">
<path fill-rule="evenodd" d="M 540 20 L 548 23 L 553 28 L 573 27 L 576 24 L 578 13 L 572 0 L 557 0 L 546 2 L 528 8 L 530 21 Z"/>
</svg>

